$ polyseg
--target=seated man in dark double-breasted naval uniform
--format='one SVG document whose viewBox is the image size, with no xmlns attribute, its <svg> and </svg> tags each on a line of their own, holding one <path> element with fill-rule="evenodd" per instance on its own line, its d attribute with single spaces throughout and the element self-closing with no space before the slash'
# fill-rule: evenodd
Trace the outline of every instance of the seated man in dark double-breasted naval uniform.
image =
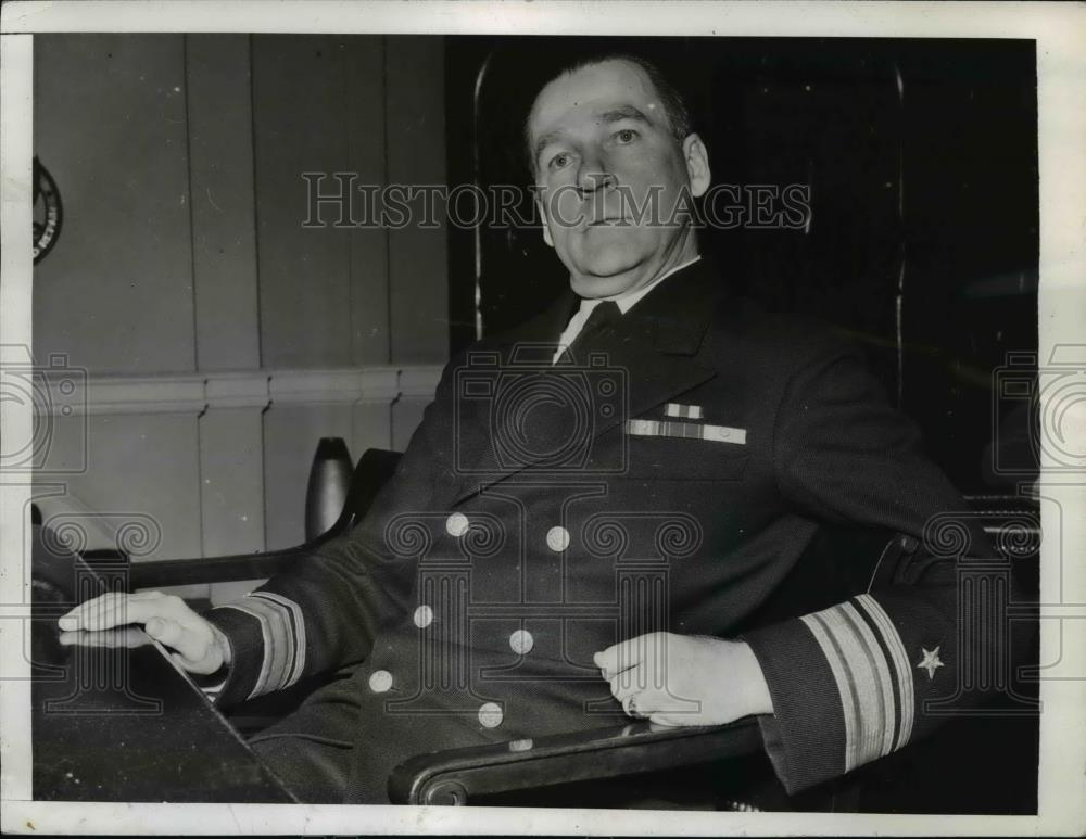
<svg viewBox="0 0 1086 839">
<path fill-rule="evenodd" d="M 629 716 L 754 715 L 790 793 L 923 736 L 954 691 L 952 562 L 750 625 L 820 523 L 919 542 L 962 509 L 917 429 L 847 342 L 699 257 L 669 213 L 708 154 L 655 67 L 570 65 L 526 128 L 570 289 L 449 364 L 365 520 L 202 616 L 141 593 L 62 630 L 143 624 L 226 672 L 224 705 L 356 664 L 252 740 L 305 801 L 386 802 L 413 754 Z"/>
</svg>

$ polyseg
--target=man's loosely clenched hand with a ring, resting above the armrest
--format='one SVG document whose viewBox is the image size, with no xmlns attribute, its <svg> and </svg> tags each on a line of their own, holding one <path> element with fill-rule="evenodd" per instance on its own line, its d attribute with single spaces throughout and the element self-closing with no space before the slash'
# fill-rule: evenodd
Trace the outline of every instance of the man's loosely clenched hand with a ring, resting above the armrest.
<svg viewBox="0 0 1086 839">
<path fill-rule="evenodd" d="M 722 725 L 773 713 L 761 668 L 743 641 L 654 632 L 593 660 L 630 716 L 659 725 Z"/>
</svg>

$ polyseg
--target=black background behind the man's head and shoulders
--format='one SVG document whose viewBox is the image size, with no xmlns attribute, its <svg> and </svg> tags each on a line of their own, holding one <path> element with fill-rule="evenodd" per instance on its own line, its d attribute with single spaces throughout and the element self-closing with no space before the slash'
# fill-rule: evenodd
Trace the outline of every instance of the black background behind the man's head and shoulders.
<svg viewBox="0 0 1086 839">
<path fill-rule="evenodd" d="M 1002 492 L 994 371 L 1037 346 L 1035 46 L 1016 40 L 449 38 L 450 183 L 529 182 L 521 130 L 561 56 L 636 51 L 678 80 L 715 183 L 807 183 L 809 230 L 707 229 L 725 281 L 864 347 L 969 494 Z M 478 236 L 478 246 L 477 246 Z M 538 312 L 568 275 L 538 228 L 450 226 L 452 351 Z M 1027 412 L 1018 420 L 1025 434 Z M 1011 432 L 1015 433 L 1014 431 Z"/>
</svg>

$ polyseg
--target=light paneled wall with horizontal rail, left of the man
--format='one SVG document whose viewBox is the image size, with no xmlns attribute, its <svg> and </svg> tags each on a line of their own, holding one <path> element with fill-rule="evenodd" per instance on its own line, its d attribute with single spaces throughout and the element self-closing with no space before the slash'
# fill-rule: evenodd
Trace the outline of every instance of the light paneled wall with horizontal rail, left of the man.
<svg viewBox="0 0 1086 839">
<path fill-rule="evenodd" d="M 447 356 L 445 231 L 303 227 L 302 175 L 443 182 L 441 38 L 38 37 L 35 152 L 65 218 L 34 353 L 79 384 L 47 518 L 152 521 L 155 558 L 283 547 L 319 437 L 406 445 Z"/>
</svg>

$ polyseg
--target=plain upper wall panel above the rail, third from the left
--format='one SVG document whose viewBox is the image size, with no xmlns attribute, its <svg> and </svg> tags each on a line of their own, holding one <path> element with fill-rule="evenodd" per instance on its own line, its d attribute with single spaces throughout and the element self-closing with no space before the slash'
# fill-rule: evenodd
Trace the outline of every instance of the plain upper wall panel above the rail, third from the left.
<svg viewBox="0 0 1086 839">
<path fill-rule="evenodd" d="M 303 173 L 348 169 L 345 58 L 331 36 L 253 38 L 262 358 L 268 367 L 351 361 L 349 232 L 304 228 Z"/>
</svg>

